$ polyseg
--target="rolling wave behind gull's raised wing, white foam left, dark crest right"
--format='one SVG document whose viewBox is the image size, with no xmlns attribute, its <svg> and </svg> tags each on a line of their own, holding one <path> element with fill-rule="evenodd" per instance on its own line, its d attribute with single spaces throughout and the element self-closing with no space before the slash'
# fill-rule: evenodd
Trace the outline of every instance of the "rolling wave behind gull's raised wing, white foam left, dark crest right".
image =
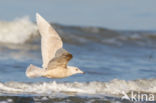
<svg viewBox="0 0 156 103">
<path fill-rule="evenodd" d="M 53 24 L 53 27 L 59 32 L 64 42 L 75 45 L 94 42 L 118 46 L 124 44 L 153 46 L 156 40 L 156 33 L 150 31 L 115 31 L 98 27 L 76 27 L 58 24 Z M 32 43 L 32 41 L 36 41 L 36 37 L 40 41 L 36 24 L 30 21 L 28 17 L 11 22 L 0 21 L 0 28 L 1 43 Z"/>
</svg>

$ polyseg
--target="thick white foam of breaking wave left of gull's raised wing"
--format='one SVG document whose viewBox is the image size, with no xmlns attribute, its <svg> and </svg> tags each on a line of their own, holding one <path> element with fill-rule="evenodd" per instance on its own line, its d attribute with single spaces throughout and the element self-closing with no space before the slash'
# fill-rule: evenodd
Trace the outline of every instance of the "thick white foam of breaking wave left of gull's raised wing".
<svg viewBox="0 0 156 103">
<path fill-rule="evenodd" d="M 0 42 L 2 43 L 21 44 L 32 35 L 37 35 L 37 27 L 29 20 L 29 17 L 11 22 L 0 21 Z"/>
</svg>

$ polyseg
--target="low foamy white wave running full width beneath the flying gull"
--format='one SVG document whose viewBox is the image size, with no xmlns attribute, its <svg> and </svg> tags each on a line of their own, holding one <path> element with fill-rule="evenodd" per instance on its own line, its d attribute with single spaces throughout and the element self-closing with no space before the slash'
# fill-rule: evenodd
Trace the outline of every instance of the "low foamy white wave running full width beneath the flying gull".
<svg viewBox="0 0 156 103">
<path fill-rule="evenodd" d="M 156 93 L 156 79 L 125 81 L 114 79 L 110 82 L 42 82 L 23 83 L 6 82 L 0 83 L 0 93 L 9 94 L 38 94 L 49 95 L 55 93 L 65 94 L 104 94 L 121 95 L 123 92 L 139 91 Z"/>
</svg>

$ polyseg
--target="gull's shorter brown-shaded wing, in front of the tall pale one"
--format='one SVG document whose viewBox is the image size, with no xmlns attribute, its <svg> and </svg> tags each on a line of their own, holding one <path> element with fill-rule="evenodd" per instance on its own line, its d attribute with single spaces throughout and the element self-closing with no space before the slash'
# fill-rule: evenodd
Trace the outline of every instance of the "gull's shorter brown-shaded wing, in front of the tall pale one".
<svg viewBox="0 0 156 103">
<path fill-rule="evenodd" d="M 66 68 L 69 60 L 72 59 L 72 57 L 72 54 L 61 48 L 56 52 L 55 58 L 50 60 L 47 69 L 55 69 L 57 67 Z"/>
</svg>

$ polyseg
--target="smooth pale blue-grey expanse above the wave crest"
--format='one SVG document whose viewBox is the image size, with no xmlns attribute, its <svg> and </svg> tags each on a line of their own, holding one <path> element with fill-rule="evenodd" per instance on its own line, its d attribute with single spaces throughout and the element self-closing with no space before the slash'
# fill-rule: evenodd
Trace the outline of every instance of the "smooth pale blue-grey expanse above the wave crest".
<svg viewBox="0 0 156 103">
<path fill-rule="evenodd" d="M 0 19 L 39 12 L 51 22 L 116 30 L 155 30 L 155 0 L 2 0 Z"/>
</svg>

